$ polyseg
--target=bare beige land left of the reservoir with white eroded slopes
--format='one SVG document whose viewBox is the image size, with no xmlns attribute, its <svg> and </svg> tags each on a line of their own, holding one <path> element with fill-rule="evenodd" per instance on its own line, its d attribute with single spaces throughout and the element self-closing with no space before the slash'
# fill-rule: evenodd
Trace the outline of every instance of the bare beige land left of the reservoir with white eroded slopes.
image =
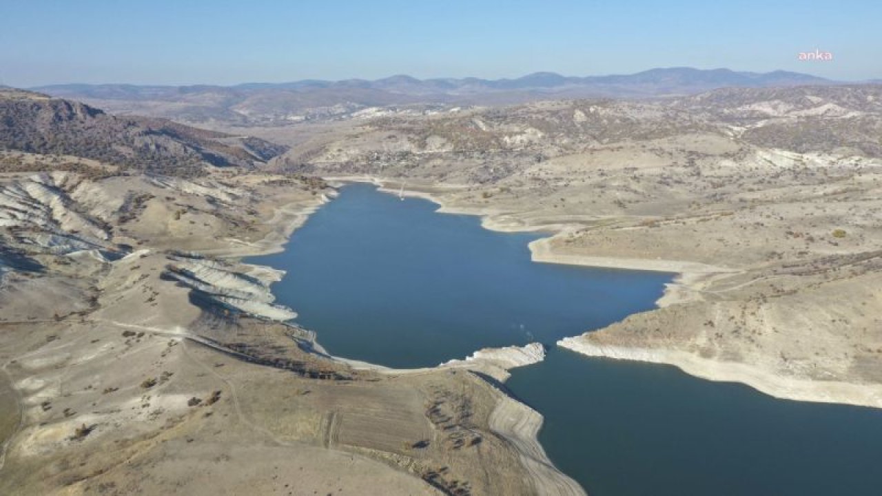
<svg viewBox="0 0 882 496">
<path fill-rule="evenodd" d="M 541 348 L 376 372 L 279 323 L 279 272 L 239 259 L 333 194 L 236 170 L 3 177 L 0 493 L 583 494 L 542 417 L 471 372 Z"/>
</svg>

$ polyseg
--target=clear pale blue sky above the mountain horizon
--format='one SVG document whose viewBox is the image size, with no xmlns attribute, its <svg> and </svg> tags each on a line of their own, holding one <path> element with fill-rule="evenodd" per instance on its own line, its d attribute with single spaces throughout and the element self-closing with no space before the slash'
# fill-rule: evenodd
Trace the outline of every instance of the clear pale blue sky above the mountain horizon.
<svg viewBox="0 0 882 496">
<path fill-rule="evenodd" d="M 882 0 L 0 0 L 0 83 L 585 76 L 687 65 L 882 78 Z M 832 62 L 799 62 L 801 51 Z"/>
</svg>

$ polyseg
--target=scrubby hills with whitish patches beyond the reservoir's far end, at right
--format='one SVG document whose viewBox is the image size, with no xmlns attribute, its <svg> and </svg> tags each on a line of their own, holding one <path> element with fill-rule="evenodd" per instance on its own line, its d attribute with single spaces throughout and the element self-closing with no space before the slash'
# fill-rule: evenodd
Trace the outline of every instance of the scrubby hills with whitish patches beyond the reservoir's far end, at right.
<svg viewBox="0 0 882 496">
<path fill-rule="evenodd" d="M 879 85 L 738 88 L 664 101 L 538 101 L 448 109 L 429 116 L 377 111 L 322 128 L 310 139 L 303 139 L 308 130 L 297 126 L 254 127 L 249 132 L 281 143 L 293 144 L 296 138 L 296 147 L 275 163 L 301 172 L 382 171 L 387 177 L 483 184 L 545 160 L 597 154 L 603 148 L 638 147 L 689 169 L 700 161 L 719 160 L 716 151 L 658 142 L 689 135 L 724 143 L 728 151 L 720 148 L 719 158 L 731 161 L 743 160 L 752 153 L 748 148 L 878 158 L 880 102 Z M 579 180 L 590 169 L 583 169 Z"/>
</svg>

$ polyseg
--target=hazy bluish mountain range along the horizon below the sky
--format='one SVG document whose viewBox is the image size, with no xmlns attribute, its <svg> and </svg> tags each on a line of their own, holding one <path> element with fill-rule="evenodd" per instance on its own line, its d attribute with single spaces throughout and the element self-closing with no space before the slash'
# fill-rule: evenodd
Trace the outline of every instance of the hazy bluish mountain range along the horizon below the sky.
<svg viewBox="0 0 882 496">
<path fill-rule="evenodd" d="M 359 109 L 391 105 L 492 105 L 586 97 L 651 98 L 699 94 L 725 87 L 830 84 L 833 81 L 829 79 L 799 72 L 673 67 L 584 78 L 534 72 L 517 79 L 416 79 L 396 75 L 373 81 L 305 79 L 236 86 L 108 84 L 34 89 L 86 101 L 115 113 L 134 112 L 191 123 L 280 124 L 346 116 Z"/>
</svg>

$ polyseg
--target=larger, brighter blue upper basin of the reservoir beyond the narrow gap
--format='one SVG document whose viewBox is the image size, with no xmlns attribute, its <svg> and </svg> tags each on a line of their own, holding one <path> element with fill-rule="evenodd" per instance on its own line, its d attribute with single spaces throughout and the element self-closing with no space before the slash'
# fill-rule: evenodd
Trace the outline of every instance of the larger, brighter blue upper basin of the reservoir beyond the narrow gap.
<svg viewBox="0 0 882 496">
<path fill-rule="evenodd" d="M 581 334 L 654 307 L 671 274 L 530 261 L 538 234 L 499 234 L 473 215 L 342 189 L 285 252 L 250 259 L 283 268 L 273 286 L 333 355 L 392 367 L 434 366 L 476 349 Z"/>
</svg>

